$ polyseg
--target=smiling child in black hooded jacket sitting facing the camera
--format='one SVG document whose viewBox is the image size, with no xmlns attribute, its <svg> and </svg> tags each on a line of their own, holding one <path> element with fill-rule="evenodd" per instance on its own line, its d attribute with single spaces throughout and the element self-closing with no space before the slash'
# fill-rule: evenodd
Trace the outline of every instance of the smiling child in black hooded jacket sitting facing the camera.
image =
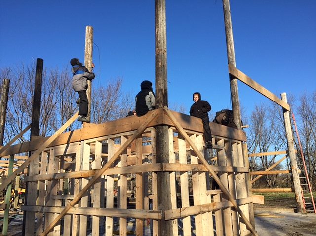
<svg viewBox="0 0 316 236">
<path fill-rule="evenodd" d="M 212 107 L 207 101 L 201 100 L 201 94 L 199 92 L 195 92 L 193 94 L 193 101 L 194 104 L 190 108 L 190 115 L 202 119 L 205 146 L 206 148 L 212 148 L 212 133 L 209 127 L 209 119 L 207 113 L 212 109 Z"/>
</svg>

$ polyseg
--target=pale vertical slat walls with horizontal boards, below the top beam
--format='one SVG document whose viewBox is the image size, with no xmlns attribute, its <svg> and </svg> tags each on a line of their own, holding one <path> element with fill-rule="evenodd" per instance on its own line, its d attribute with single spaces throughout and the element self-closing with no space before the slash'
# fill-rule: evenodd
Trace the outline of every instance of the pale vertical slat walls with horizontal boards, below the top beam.
<svg viewBox="0 0 316 236">
<path fill-rule="evenodd" d="M 93 171 L 101 169 L 131 134 L 82 140 L 75 144 L 76 147 L 68 147 L 68 151 L 58 146 L 42 152 L 32 162 L 26 178 L 29 182 L 28 193 L 32 196 L 22 207 L 28 217 L 27 235 L 40 235 L 63 206 L 88 183 Z M 144 141 L 145 137 L 147 142 Z M 203 149 L 202 134 L 191 132 L 190 138 L 200 152 L 209 155 Z M 212 176 L 203 168 L 188 142 L 178 136 L 174 128 L 170 128 L 170 162 L 157 165 L 155 140 L 154 128 L 147 129 L 139 136 L 49 235 L 81 236 L 91 233 L 92 236 L 126 236 L 131 230 L 136 235 L 158 235 L 158 220 L 162 215 L 172 221 L 174 236 L 248 235 L 249 230 L 227 197 L 221 190 L 211 188 Z M 248 198 L 245 189 L 248 173 L 244 170 L 242 143 L 217 136 L 214 142 L 222 147 L 213 149 L 217 165 L 222 168 L 218 176 L 249 217 L 252 199 Z M 232 167 L 241 167 L 243 171 L 232 172 L 238 170 L 232 170 Z M 170 176 L 170 210 L 165 214 L 158 210 L 157 205 L 157 171 L 169 171 Z M 55 175 L 52 177 L 49 174 Z M 35 217 L 38 221 L 35 221 Z M 130 226 L 132 223 L 133 228 Z"/>
</svg>

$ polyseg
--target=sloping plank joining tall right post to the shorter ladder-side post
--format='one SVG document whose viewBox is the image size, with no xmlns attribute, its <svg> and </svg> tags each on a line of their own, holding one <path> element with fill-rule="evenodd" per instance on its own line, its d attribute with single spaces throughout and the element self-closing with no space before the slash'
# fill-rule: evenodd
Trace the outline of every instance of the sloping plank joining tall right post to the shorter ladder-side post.
<svg viewBox="0 0 316 236">
<path fill-rule="evenodd" d="M 276 102 L 276 104 L 282 106 L 285 110 L 290 111 L 290 105 L 286 102 L 279 99 L 275 94 L 271 93 L 269 90 L 267 90 L 265 87 L 258 84 L 256 81 L 252 80 L 250 77 L 242 73 L 240 70 L 238 70 L 232 63 L 228 65 L 229 73 L 234 76 L 235 78 L 239 79 L 241 82 L 248 85 L 250 88 L 253 88 L 263 96 L 267 97 L 271 101 Z"/>
</svg>

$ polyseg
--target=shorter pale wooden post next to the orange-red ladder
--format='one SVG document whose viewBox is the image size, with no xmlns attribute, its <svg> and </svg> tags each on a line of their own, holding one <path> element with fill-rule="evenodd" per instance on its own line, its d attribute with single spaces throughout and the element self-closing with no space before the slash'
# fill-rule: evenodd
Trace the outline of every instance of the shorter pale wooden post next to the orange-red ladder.
<svg viewBox="0 0 316 236">
<path fill-rule="evenodd" d="M 281 98 L 283 101 L 287 103 L 286 93 L 282 93 Z M 295 147 L 294 147 L 293 134 L 292 134 L 292 128 L 291 128 L 290 112 L 285 110 L 284 108 L 283 108 L 283 117 L 284 117 L 284 126 L 285 126 L 286 139 L 287 139 L 288 156 L 290 157 L 290 162 L 291 162 L 293 186 L 294 186 L 295 199 L 296 199 L 296 205 L 297 205 L 297 213 L 303 214 L 303 213 L 306 213 L 306 211 L 304 208 L 300 178 L 298 174 Z"/>
</svg>

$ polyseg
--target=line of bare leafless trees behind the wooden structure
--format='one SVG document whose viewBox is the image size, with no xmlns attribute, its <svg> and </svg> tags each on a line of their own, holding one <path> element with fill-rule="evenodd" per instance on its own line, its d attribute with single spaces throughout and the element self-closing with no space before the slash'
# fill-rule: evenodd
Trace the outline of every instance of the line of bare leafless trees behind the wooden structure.
<svg viewBox="0 0 316 236">
<path fill-rule="evenodd" d="M 16 67 L 0 68 L 0 83 L 10 79 L 4 144 L 27 127 L 32 118 L 32 102 L 36 65 L 20 64 Z M 78 110 L 77 94 L 71 88 L 72 74 L 69 68 L 43 70 L 40 110 L 40 136 L 54 134 Z M 117 77 L 107 84 L 93 86 L 91 120 L 103 123 L 125 117 L 134 107 L 134 95 L 122 91 L 123 79 Z M 316 91 L 302 94 L 299 98 L 288 96 L 294 111 L 304 158 L 310 181 L 316 189 Z M 171 107 L 172 109 L 172 107 Z M 184 113 L 183 105 L 173 105 L 174 110 Z M 274 104 L 257 104 L 250 115 L 242 109 L 249 153 L 286 150 L 286 136 L 282 109 Z M 212 120 L 212 119 L 211 119 Z M 70 125 L 67 131 L 80 128 L 80 123 Z M 20 142 L 29 140 L 28 135 Z M 250 157 L 250 171 L 265 170 L 276 163 L 277 155 Z M 275 169 L 290 169 L 289 161 Z M 291 187 L 290 175 L 265 175 L 254 183 L 254 187 Z"/>
</svg>

